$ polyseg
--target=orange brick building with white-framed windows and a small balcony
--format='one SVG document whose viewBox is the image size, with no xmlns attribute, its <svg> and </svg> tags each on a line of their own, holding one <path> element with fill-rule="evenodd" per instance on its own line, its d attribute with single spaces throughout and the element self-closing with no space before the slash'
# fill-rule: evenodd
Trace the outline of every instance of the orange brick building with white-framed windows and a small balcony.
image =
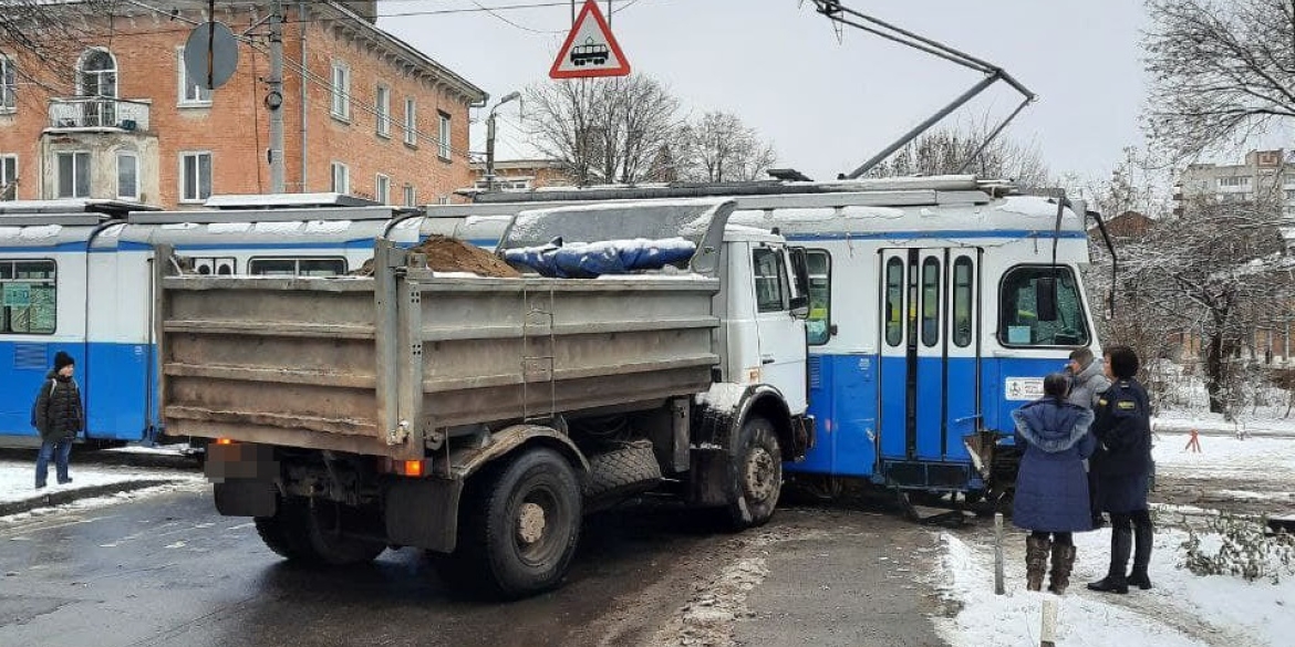
<svg viewBox="0 0 1295 647">
<path fill-rule="evenodd" d="M 234 75 L 206 91 L 183 63 L 206 5 L 119 4 L 114 18 L 88 19 L 62 74 L 30 52 L 0 52 L 8 197 L 184 208 L 210 194 L 268 193 L 268 28 L 253 28 Z M 215 19 L 240 34 L 267 18 L 268 5 L 223 3 Z M 484 91 L 377 28 L 376 0 L 284 6 L 287 192 L 413 204 L 447 202 L 473 181 L 469 109 L 484 104 Z"/>
</svg>

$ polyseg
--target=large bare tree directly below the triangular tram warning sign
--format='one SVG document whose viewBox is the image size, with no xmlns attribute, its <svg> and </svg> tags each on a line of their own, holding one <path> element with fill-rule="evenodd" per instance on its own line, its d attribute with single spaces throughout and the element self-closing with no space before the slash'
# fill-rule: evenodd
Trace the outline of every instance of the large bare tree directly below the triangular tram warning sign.
<svg viewBox="0 0 1295 647">
<path fill-rule="evenodd" d="M 679 100 L 655 79 L 635 74 L 541 83 L 526 97 L 532 142 L 562 162 L 578 184 L 632 184 L 663 172 Z"/>
</svg>

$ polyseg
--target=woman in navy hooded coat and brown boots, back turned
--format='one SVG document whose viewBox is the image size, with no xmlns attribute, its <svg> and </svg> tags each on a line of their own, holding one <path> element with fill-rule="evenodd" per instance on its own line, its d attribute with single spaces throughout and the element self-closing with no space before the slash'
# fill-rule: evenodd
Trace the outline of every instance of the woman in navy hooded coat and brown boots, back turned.
<svg viewBox="0 0 1295 647">
<path fill-rule="evenodd" d="M 1026 540 L 1026 587 L 1042 587 L 1048 554 L 1052 581 L 1048 590 L 1061 595 L 1075 567 L 1074 532 L 1090 531 L 1084 459 L 1097 441 L 1089 432 L 1093 413 L 1066 401 L 1070 378 L 1053 373 L 1044 378 L 1044 397 L 1011 411 L 1017 443 L 1026 446 L 1017 475 L 1011 521 L 1031 531 Z"/>
</svg>

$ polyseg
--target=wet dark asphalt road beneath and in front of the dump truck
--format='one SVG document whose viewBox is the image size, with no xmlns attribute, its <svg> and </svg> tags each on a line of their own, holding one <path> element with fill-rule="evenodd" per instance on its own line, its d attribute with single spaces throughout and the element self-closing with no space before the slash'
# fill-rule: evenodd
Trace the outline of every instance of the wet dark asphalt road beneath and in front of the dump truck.
<svg viewBox="0 0 1295 647">
<path fill-rule="evenodd" d="M 891 644 L 938 644 L 922 615 L 934 603 L 918 585 L 887 586 L 882 617 L 853 608 L 857 591 L 877 595 L 894 577 L 887 560 L 922 559 L 914 542 L 934 543 L 886 515 L 789 510 L 758 533 L 729 536 L 681 510 L 629 509 L 585 524 L 561 590 L 499 604 L 452 595 L 411 549 L 360 568 L 290 567 L 249 520 L 216 515 L 203 488 L 0 521 L 0 644 L 803 644 L 815 642 L 813 628 L 790 631 L 785 622 L 821 620 L 826 603 L 853 621 L 856 637 L 872 621 L 908 637 Z M 843 568 L 857 569 L 851 599 L 813 584 L 813 562 L 838 580 L 833 586 L 844 584 Z M 747 604 L 741 578 L 756 572 L 768 600 L 752 593 Z M 725 602 L 729 594 L 738 602 Z M 698 625 L 685 613 L 711 604 L 741 607 L 738 626 Z M 896 615 L 906 624 L 896 625 Z M 765 624 L 782 630 L 761 631 Z"/>
</svg>

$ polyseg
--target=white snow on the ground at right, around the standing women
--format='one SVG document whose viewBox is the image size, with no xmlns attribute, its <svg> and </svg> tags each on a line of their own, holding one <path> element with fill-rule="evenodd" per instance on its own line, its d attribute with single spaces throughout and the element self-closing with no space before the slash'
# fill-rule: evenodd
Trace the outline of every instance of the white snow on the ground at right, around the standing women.
<svg viewBox="0 0 1295 647">
<path fill-rule="evenodd" d="M 1164 419 L 1198 424 L 1200 415 L 1169 414 Z M 1221 423 L 1221 419 L 1219 421 Z M 1250 421 L 1251 428 L 1281 430 L 1295 424 L 1283 419 Z M 1206 484 L 1215 498 L 1206 505 L 1259 501 L 1263 510 L 1289 507 L 1295 490 L 1295 435 L 1272 437 L 1202 436 L 1200 453 L 1184 448 L 1188 433 L 1166 432 L 1155 440 L 1158 483 Z M 1222 427 L 1220 427 L 1222 428 Z M 1203 430 L 1202 430 L 1203 432 Z M 1220 487 L 1221 485 L 1221 487 Z M 1260 647 L 1295 644 L 1295 571 L 1287 569 L 1278 585 L 1267 580 L 1250 584 L 1238 577 L 1198 577 L 1177 565 L 1182 562 L 1180 512 L 1215 515 L 1217 510 L 1166 501 L 1169 488 L 1151 494 L 1158 527 L 1151 558 L 1155 589 L 1129 595 L 1089 591 L 1085 584 L 1106 575 L 1110 531 L 1075 536 L 1079 559 L 1070 591 L 1061 598 L 1058 644 L 1155 644 L 1158 647 L 1210 646 Z M 1176 527 L 1177 525 L 1177 527 Z M 943 569 L 936 581 L 954 617 L 939 619 L 941 635 L 954 647 L 1035 646 L 1041 630 L 1042 600 L 1050 594 L 1024 590 L 1024 533 L 1013 531 L 1005 542 L 1005 595 L 993 594 L 993 537 L 980 529 L 966 536 L 944 534 Z M 1203 536 L 1202 543 L 1217 543 Z"/>
</svg>

